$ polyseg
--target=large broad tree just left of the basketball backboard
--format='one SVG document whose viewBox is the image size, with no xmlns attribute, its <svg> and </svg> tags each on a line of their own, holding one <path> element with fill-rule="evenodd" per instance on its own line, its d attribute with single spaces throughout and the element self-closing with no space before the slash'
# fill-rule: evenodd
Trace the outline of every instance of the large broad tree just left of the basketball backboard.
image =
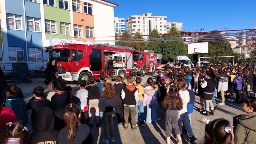
<svg viewBox="0 0 256 144">
<path fill-rule="evenodd" d="M 164 61 L 172 60 L 177 55 L 188 55 L 187 46 L 183 43 L 183 39 L 180 37 L 180 32 L 177 28 L 172 27 L 167 34 L 164 35 L 164 41 L 162 45 L 162 55 Z M 168 44 L 168 43 L 180 43 L 180 44 Z"/>
</svg>

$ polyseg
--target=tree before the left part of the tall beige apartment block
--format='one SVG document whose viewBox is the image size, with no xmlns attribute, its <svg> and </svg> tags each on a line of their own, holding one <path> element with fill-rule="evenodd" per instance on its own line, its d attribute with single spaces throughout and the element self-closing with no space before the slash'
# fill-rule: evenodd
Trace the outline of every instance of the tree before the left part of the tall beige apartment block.
<svg viewBox="0 0 256 144">
<path fill-rule="evenodd" d="M 130 45 L 130 47 L 132 47 L 133 49 L 136 50 L 140 50 L 140 51 L 144 51 L 144 49 L 146 48 L 146 41 L 145 38 L 143 36 L 141 36 L 142 34 L 140 32 L 136 32 L 135 35 L 138 36 L 133 36 L 132 37 L 132 44 Z"/>
</svg>

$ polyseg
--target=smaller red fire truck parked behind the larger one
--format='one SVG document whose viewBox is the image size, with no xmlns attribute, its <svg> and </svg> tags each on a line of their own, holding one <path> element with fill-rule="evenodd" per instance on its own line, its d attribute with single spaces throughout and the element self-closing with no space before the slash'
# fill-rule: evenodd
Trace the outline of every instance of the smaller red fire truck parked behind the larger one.
<svg viewBox="0 0 256 144">
<path fill-rule="evenodd" d="M 146 73 L 153 74 L 156 71 L 156 53 L 153 50 L 134 51 L 133 52 L 133 64 L 137 63 L 139 72 L 142 77 Z"/>
</svg>

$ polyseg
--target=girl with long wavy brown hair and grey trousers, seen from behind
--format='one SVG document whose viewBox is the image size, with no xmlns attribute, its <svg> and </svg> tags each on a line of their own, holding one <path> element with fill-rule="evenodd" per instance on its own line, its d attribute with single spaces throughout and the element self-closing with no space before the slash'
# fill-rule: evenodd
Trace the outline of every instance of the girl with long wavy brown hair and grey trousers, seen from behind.
<svg viewBox="0 0 256 144">
<path fill-rule="evenodd" d="M 179 126 L 178 126 L 178 117 L 179 111 L 183 108 L 182 99 L 179 96 L 178 88 L 175 85 L 171 85 L 167 95 L 163 101 L 163 107 L 166 109 L 165 113 L 165 135 L 166 135 L 166 143 L 170 144 L 170 137 L 172 128 L 176 134 L 177 143 L 182 143 Z"/>
</svg>

